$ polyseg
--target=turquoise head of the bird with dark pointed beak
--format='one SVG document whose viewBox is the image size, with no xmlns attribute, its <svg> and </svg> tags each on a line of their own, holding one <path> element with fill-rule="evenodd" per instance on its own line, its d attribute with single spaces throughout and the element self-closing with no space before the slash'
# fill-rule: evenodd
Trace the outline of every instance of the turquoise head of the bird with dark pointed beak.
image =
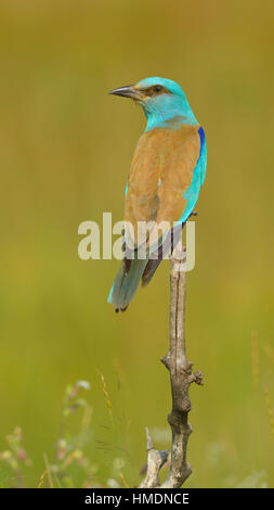
<svg viewBox="0 0 274 510">
<path fill-rule="evenodd" d="M 180 85 L 167 78 L 145 78 L 135 85 L 119 87 L 109 92 L 133 99 L 140 104 L 147 117 L 147 128 L 161 126 L 169 118 L 181 116 L 185 122 L 195 124 L 196 119 Z"/>
</svg>

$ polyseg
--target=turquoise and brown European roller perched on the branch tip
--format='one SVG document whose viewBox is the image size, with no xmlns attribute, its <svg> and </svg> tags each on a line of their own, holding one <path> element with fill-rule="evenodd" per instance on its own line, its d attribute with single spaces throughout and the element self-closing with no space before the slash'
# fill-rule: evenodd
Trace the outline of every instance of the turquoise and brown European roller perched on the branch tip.
<svg viewBox="0 0 274 510">
<path fill-rule="evenodd" d="M 128 176 L 125 225 L 132 226 L 133 234 L 138 232 L 138 225 L 144 221 L 154 226 L 162 221 L 173 226 L 169 227 L 173 248 L 179 239 L 177 235 L 174 241 L 175 230 L 180 229 L 181 233 L 193 214 L 205 180 L 207 146 L 204 129 L 195 118 L 180 85 L 170 79 L 145 78 L 136 85 L 112 90 L 110 93 L 131 98 L 142 106 L 147 120 Z M 142 285 L 151 281 L 166 253 L 164 234 L 160 235 L 153 228 L 149 237 L 157 238 L 157 257 L 149 256 L 151 251 L 146 251 L 142 258 L 138 257 L 133 241 L 133 256 L 126 254 L 121 262 L 108 295 L 108 303 L 114 305 L 116 311 L 127 309 L 140 281 Z M 127 239 L 125 237 L 125 251 Z"/>
</svg>

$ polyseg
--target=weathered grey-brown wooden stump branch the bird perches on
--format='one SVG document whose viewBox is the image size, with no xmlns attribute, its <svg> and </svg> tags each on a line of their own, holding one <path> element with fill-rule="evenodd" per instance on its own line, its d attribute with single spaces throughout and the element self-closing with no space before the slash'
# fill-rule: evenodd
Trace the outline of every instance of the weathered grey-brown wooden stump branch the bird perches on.
<svg viewBox="0 0 274 510">
<path fill-rule="evenodd" d="M 192 433 L 188 412 L 192 408 L 188 388 L 191 383 L 203 384 L 203 373 L 192 371 L 193 364 L 185 354 L 185 281 L 186 273 L 182 270 L 182 259 L 171 257 L 170 269 L 170 345 L 165 358 L 161 359 L 170 373 L 172 409 L 168 422 L 172 433 L 171 463 L 162 488 L 179 488 L 192 473 L 186 458 L 187 442 Z M 148 441 L 149 438 L 149 441 Z M 159 471 L 165 463 L 165 456 L 153 446 L 147 431 L 147 475 L 141 487 L 159 486 Z"/>
</svg>

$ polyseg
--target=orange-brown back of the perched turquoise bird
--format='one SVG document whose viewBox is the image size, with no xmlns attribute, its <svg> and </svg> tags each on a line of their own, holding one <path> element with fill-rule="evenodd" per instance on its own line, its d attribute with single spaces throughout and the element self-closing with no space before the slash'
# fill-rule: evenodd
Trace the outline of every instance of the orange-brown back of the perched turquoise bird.
<svg viewBox="0 0 274 510">
<path fill-rule="evenodd" d="M 144 132 L 135 148 L 128 178 L 125 220 L 178 221 L 185 209 L 183 195 L 191 186 L 200 151 L 199 126 L 181 125 Z"/>
</svg>

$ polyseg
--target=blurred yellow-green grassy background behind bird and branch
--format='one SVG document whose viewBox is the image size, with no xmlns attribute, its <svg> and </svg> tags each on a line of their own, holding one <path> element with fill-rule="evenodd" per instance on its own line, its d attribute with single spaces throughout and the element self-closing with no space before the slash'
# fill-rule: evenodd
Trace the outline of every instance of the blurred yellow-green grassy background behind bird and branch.
<svg viewBox="0 0 274 510">
<path fill-rule="evenodd" d="M 187 355 L 205 386 L 191 388 L 186 486 L 274 486 L 273 46 L 272 0 L 1 1 L 0 450 L 19 425 L 25 485 L 38 485 L 43 452 L 54 458 L 79 379 L 91 383 L 92 483 L 140 483 L 145 425 L 169 446 L 169 264 L 117 316 L 106 297 L 119 263 L 77 253 L 80 221 L 121 219 L 145 126 L 107 92 L 164 76 L 208 143 L 187 277 Z M 9 476 L 0 463 L 0 486 Z"/>
</svg>

